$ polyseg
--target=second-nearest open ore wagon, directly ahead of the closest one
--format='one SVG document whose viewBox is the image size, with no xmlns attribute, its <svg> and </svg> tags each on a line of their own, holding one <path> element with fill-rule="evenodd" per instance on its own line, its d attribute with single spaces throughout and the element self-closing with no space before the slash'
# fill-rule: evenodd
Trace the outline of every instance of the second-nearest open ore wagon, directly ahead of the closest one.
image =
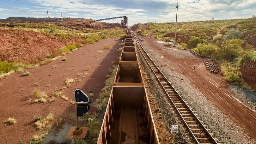
<svg viewBox="0 0 256 144">
<path fill-rule="evenodd" d="M 113 85 L 137 87 L 144 86 L 139 64 L 119 63 Z"/>
</svg>

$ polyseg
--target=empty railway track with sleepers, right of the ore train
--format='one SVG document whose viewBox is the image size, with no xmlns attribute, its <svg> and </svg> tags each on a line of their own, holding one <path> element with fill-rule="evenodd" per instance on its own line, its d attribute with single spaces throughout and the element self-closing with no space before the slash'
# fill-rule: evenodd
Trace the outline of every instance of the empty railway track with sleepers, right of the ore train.
<svg viewBox="0 0 256 144">
<path fill-rule="evenodd" d="M 159 82 L 164 92 L 168 96 L 170 103 L 173 105 L 174 109 L 180 116 L 180 119 L 184 123 L 184 129 L 188 131 L 188 135 L 191 135 L 189 136 L 190 139 L 192 139 L 196 144 L 217 144 L 216 139 L 212 136 L 213 134 L 208 131 L 209 129 L 205 128 L 206 125 L 204 125 L 200 118 L 197 117 L 197 114 L 192 111 L 192 108 L 190 108 L 175 87 L 149 57 L 134 32 L 132 32 L 132 36 L 135 40 L 134 43 L 137 51 L 141 52 L 143 58 L 153 72 L 155 79 Z"/>
</svg>

